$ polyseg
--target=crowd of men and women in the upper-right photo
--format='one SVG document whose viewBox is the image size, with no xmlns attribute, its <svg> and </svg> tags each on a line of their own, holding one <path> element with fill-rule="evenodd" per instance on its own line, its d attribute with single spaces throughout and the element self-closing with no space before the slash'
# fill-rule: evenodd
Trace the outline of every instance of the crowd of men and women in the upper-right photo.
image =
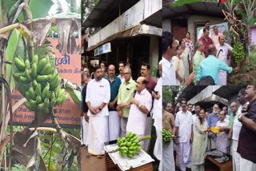
<svg viewBox="0 0 256 171">
<path fill-rule="evenodd" d="M 178 41 L 170 32 L 162 33 L 162 61 L 164 85 L 226 85 L 227 73 L 237 72 L 230 67 L 233 48 L 226 43 L 225 36 L 214 26 L 210 34 L 210 23 L 199 31 L 195 43 L 186 38 Z M 195 53 L 194 53 L 195 48 Z"/>
</svg>

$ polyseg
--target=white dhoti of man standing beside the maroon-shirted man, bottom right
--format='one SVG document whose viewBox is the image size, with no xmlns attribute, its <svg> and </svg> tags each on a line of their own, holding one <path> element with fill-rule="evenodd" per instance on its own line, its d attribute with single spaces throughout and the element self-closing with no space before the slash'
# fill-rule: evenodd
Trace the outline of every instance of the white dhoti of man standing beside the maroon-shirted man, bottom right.
<svg viewBox="0 0 256 171">
<path fill-rule="evenodd" d="M 232 153 L 232 165 L 234 171 L 240 171 L 240 153 L 237 152 L 238 141 L 232 140 L 231 153 Z"/>
</svg>

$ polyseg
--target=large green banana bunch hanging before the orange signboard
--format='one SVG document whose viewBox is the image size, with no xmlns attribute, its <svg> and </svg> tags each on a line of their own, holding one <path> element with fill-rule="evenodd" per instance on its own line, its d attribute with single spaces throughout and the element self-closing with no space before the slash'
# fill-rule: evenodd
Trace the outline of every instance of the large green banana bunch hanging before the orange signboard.
<svg viewBox="0 0 256 171">
<path fill-rule="evenodd" d="M 30 84 L 26 90 L 26 108 L 31 111 L 42 110 L 49 113 L 49 108 L 61 105 L 66 101 L 65 89 L 60 88 L 61 78 L 58 70 L 50 62 L 48 54 L 38 60 L 38 55 L 34 55 L 30 63 L 29 59 L 20 57 L 14 58 L 14 65 L 18 71 L 13 74 L 16 82 Z"/>
</svg>

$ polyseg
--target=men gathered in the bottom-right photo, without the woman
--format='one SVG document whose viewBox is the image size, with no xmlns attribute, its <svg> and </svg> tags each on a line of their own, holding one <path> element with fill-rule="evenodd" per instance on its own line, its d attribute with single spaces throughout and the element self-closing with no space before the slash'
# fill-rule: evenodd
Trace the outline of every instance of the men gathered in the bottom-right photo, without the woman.
<svg viewBox="0 0 256 171">
<path fill-rule="evenodd" d="M 179 167 L 181 170 L 191 168 L 191 145 L 193 143 L 193 129 L 196 118 L 199 117 L 200 105 L 186 105 L 186 99 L 181 101 L 182 109 L 173 114 L 175 118 L 175 144 L 178 145 Z M 233 170 L 256 170 L 256 86 L 248 85 L 238 92 L 238 103 L 230 104 L 230 115 L 227 107 L 220 109 L 217 104 L 213 111 L 206 115 L 207 125 L 210 128 L 219 127 L 219 134 L 208 133 L 207 151 L 217 149 L 222 156 L 232 156 Z M 174 113 L 171 103 L 164 106 L 164 110 Z M 194 114 L 193 114 L 194 113 Z M 163 112 L 163 116 L 166 113 Z M 163 118 L 163 121 L 166 121 Z M 165 123 L 162 123 L 163 126 Z M 165 148 L 164 148 L 165 149 Z M 163 150 L 164 150 L 163 149 Z M 204 152 L 205 153 L 205 152 Z M 172 157 L 170 157 L 172 156 Z M 172 158 L 173 161 L 163 163 L 162 168 L 173 168 L 174 153 L 163 152 L 163 158 Z M 168 169 L 163 169 L 168 170 Z M 170 170 L 170 169 L 169 169 Z M 193 169 L 192 169 L 193 170 Z"/>
</svg>

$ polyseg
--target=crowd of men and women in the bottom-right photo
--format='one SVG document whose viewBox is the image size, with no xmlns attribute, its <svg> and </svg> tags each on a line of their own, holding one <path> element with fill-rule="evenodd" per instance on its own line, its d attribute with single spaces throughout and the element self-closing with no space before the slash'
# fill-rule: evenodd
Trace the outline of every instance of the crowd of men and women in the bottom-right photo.
<svg viewBox="0 0 256 171">
<path fill-rule="evenodd" d="M 162 128 L 174 135 L 174 143 L 163 145 L 162 170 L 175 170 L 174 161 L 182 171 L 205 170 L 206 154 L 214 149 L 219 157 L 231 155 L 233 170 L 256 170 L 256 86 L 240 89 L 237 101 L 230 109 L 214 104 L 211 113 L 200 105 L 192 111 L 185 98 L 180 111 L 163 102 Z"/>
</svg>

